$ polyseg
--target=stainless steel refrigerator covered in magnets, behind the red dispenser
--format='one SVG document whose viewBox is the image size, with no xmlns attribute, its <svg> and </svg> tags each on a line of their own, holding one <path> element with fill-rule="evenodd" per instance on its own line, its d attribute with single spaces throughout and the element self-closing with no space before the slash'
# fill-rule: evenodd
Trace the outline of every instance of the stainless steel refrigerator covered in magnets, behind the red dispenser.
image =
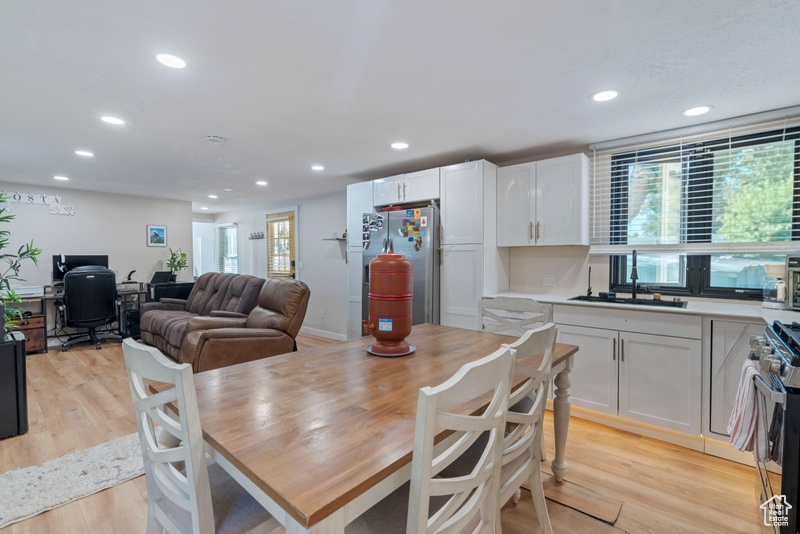
<svg viewBox="0 0 800 534">
<path fill-rule="evenodd" d="M 391 249 L 414 262 L 411 324 L 439 324 L 439 209 L 365 213 L 362 241 L 362 319 L 369 319 L 369 262 Z"/>
</svg>

